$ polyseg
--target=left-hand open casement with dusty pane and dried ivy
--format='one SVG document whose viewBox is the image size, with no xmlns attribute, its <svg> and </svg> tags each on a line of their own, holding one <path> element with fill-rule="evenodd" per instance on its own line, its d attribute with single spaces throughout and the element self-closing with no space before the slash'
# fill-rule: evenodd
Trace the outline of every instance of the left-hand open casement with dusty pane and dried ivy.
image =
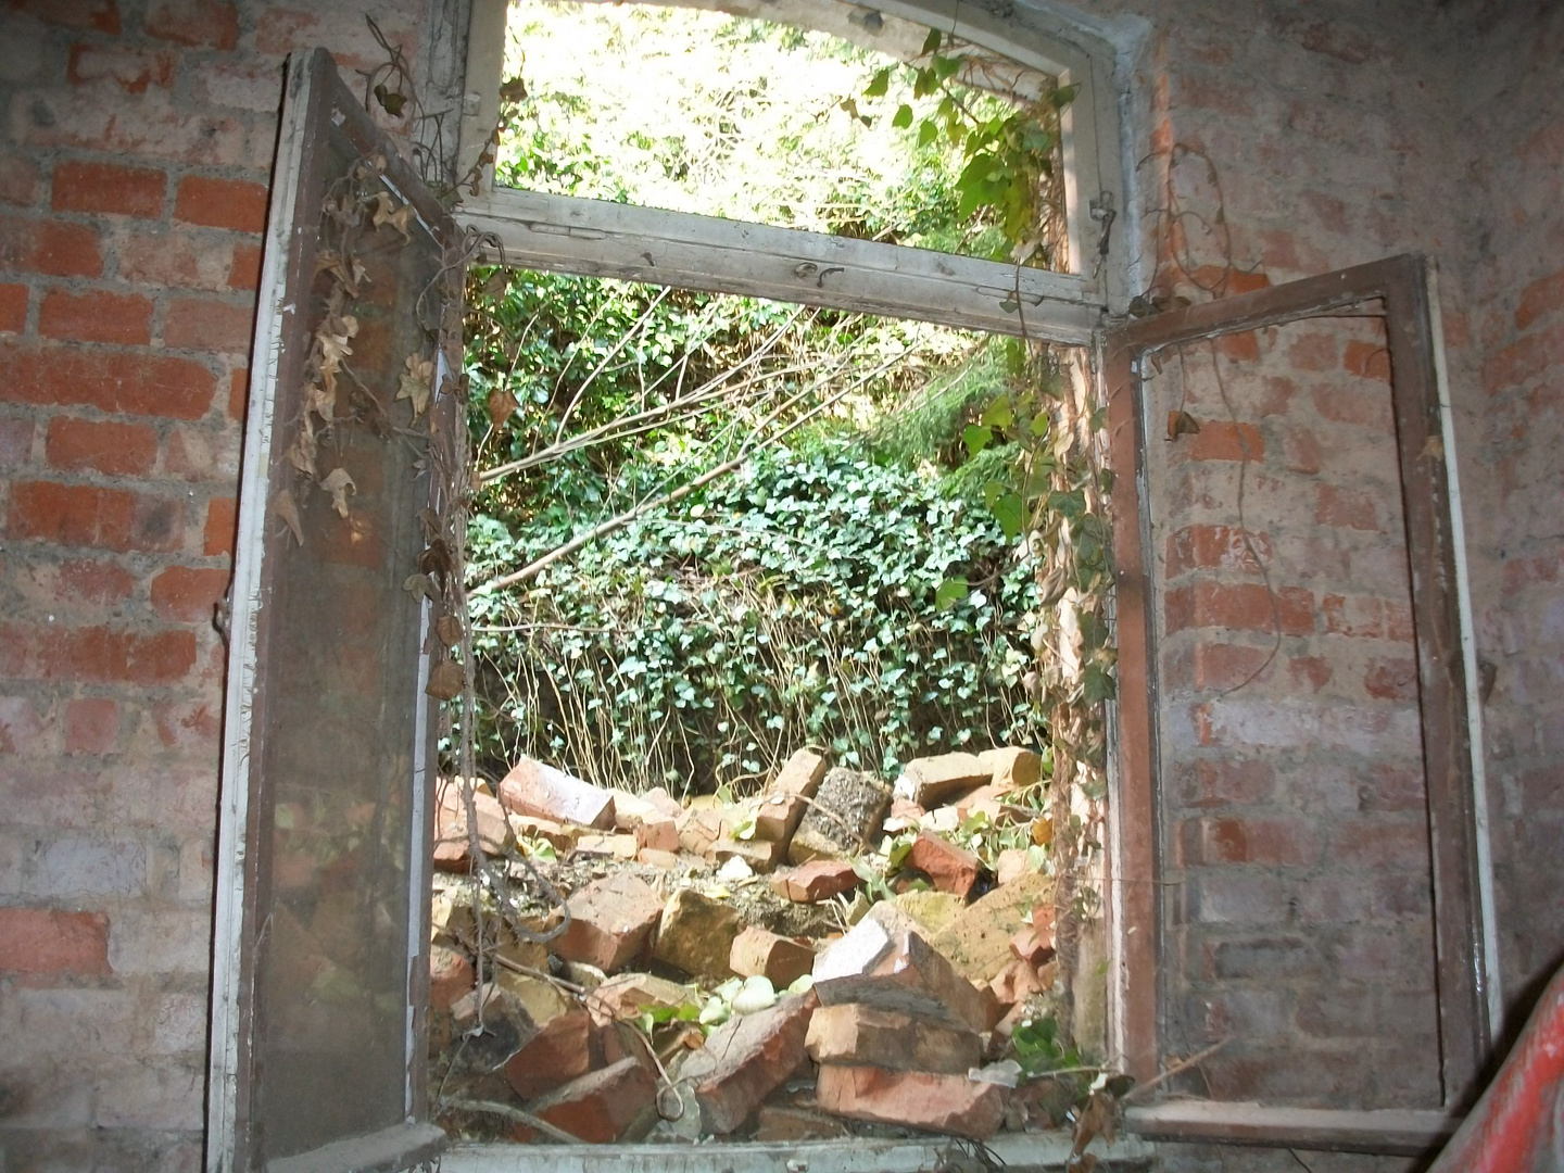
<svg viewBox="0 0 1564 1173">
<path fill-rule="evenodd" d="M 443 1145 L 424 1103 L 425 687 L 466 460 L 444 377 L 461 361 L 454 239 L 330 55 L 296 56 L 235 552 L 214 1171 L 407 1168 Z"/>
</svg>

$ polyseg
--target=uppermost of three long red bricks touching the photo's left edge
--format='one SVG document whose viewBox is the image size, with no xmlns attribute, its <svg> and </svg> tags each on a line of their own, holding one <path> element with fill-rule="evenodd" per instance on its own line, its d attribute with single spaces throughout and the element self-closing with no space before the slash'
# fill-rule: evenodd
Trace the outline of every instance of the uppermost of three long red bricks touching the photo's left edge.
<svg viewBox="0 0 1564 1173">
<path fill-rule="evenodd" d="M 217 380 L 200 363 L 145 353 L 0 346 L 0 400 L 200 419 Z"/>
</svg>

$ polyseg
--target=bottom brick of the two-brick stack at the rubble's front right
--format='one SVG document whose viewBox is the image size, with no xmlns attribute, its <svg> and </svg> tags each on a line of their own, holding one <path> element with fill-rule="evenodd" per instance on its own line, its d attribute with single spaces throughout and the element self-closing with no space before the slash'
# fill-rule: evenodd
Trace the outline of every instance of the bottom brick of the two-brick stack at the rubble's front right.
<svg viewBox="0 0 1564 1173">
<path fill-rule="evenodd" d="M 987 1140 L 1004 1123 L 1010 1089 L 963 1074 L 823 1067 L 815 1098 L 835 1115 Z"/>
</svg>

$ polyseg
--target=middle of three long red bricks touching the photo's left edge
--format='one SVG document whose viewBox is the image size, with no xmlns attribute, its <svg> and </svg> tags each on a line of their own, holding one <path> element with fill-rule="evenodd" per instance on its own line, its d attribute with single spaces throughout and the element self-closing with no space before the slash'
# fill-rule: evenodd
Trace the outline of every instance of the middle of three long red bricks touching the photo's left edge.
<svg viewBox="0 0 1564 1173">
<path fill-rule="evenodd" d="M 127 490 L 28 480 L 11 490 L 6 533 L 61 546 L 175 551 L 185 540 L 185 508 Z"/>
</svg>

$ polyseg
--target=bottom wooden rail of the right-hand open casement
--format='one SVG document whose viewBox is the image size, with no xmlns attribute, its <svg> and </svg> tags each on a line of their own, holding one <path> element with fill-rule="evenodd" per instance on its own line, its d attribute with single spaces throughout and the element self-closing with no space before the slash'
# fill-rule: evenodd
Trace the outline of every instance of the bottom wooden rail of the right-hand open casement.
<svg viewBox="0 0 1564 1173">
<path fill-rule="evenodd" d="M 1444 1112 L 1342 1112 L 1175 1101 L 1125 1112 L 1125 1126 L 1154 1140 L 1209 1140 L 1225 1145 L 1334 1150 L 1419 1156 L 1448 1139 L 1459 1117 Z"/>
</svg>

